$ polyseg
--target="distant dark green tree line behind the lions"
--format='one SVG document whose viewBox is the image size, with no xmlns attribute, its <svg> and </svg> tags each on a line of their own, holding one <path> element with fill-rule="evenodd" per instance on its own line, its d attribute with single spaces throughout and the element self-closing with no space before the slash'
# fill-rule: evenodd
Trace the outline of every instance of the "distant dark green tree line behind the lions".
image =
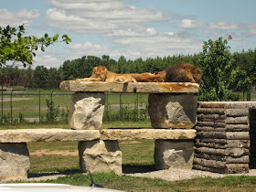
<svg viewBox="0 0 256 192">
<path fill-rule="evenodd" d="M 2 66 L 0 68 L 0 81 L 4 81 L 6 86 L 11 86 L 12 81 L 16 81 L 16 86 L 23 86 L 28 89 L 59 89 L 59 81 L 90 77 L 92 69 L 99 65 L 105 66 L 116 73 L 142 73 L 161 71 L 179 62 L 188 62 L 204 71 L 206 70 L 204 66 L 207 65 L 207 60 L 202 59 L 202 57 L 205 57 L 203 52 L 194 55 L 181 54 L 164 58 L 140 58 L 134 60 L 125 59 L 123 56 L 118 60 L 111 59 L 107 55 L 103 55 L 101 58 L 84 56 L 80 59 L 64 61 L 59 69 L 48 69 L 44 66 L 37 66 L 36 69 L 31 67 L 19 69 L 13 66 Z M 243 71 L 240 75 L 232 76 L 232 78 L 235 78 L 233 85 L 230 85 L 233 86 L 233 90 L 247 90 L 250 88 L 250 85 L 256 84 L 256 48 L 254 50 L 242 50 L 240 53 L 232 53 L 231 57 L 233 60 L 230 64 L 236 66 L 236 69 Z M 229 69 L 226 69 L 226 71 L 227 73 L 221 73 L 223 80 L 229 80 L 231 77 L 231 74 L 228 72 Z M 206 74 L 206 71 L 204 73 Z M 250 80 L 250 83 L 247 83 L 246 79 Z M 203 80 L 208 80 L 208 77 L 204 77 Z"/>
</svg>

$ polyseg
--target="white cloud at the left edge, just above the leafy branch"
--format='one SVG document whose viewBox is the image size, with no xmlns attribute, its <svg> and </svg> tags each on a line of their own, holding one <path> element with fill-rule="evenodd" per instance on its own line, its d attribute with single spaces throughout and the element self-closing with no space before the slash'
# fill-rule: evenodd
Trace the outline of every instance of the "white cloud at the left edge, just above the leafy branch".
<svg viewBox="0 0 256 192">
<path fill-rule="evenodd" d="M 33 22 L 33 19 L 37 18 L 38 16 L 40 16 L 40 13 L 36 9 L 21 9 L 18 12 L 0 9 L 0 26 L 5 27 L 10 25 L 12 27 L 18 27 L 22 24 L 29 26 Z"/>
</svg>

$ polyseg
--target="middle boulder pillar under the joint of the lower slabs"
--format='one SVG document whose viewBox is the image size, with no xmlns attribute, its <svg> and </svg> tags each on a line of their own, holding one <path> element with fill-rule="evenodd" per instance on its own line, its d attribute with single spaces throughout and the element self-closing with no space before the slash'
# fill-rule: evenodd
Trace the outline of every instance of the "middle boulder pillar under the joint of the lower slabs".
<svg viewBox="0 0 256 192">
<path fill-rule="evenodd" d="M 79 154 L 83 172 L 122 174 L 122 152 L 118 141 L 79 142 Z"/>
</svg>

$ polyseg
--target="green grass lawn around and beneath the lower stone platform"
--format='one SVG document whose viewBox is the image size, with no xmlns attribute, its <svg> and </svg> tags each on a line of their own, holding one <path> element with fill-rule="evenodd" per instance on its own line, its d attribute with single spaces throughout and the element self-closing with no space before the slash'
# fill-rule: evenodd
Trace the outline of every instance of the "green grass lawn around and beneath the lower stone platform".
<svg viewBox="0 0 256 192">
<path fill-rule="evenodd" d="M 150 126 L 149 122 L 103 123 L 108 127 L 142 127 Z M 16 125 L 16 128 L 37 128 L 34 125 Z M 43 128 L 69 128 L 67 124 L 40 124 Z M 3 127 L 1 127 L 3 128 Z M 14 127 L 8 127 L 14 128 Z M 123 173 L 129 171 L 154 171 L 154 140 L 120 141 L 123 152 Z M 28 143 L 31 168 L 29 173 L 40 175 L 48 172 L 68 172 L 69 176 L 55 180 L 39 181 L 62 183 L 75 186 L 89 186 L 90 176 L 80 173 L 79 156 L 69 155 L 78 152 L 77 142 L 40 142 Z M 57 155 L 57 151 L 61 155 Z M 51 153 L 50 153 L 51 152 Z M 53 152 L 53 153 L 52 153 Z M 69 152 L 69 153 L 67 153 Z M 139 153 L 138 153 L 139 152 Z M 52 155 L 55 154 L 55 155 Z M 194 178 L 189 180 L 169 182 L 157 178 L 117 176 L 114 174 L 93 174 L 96 183 L 103 187 L 124 191 L 255 191 L 256 176 L 226 176 L 224 178 Z"/>
</svg>

